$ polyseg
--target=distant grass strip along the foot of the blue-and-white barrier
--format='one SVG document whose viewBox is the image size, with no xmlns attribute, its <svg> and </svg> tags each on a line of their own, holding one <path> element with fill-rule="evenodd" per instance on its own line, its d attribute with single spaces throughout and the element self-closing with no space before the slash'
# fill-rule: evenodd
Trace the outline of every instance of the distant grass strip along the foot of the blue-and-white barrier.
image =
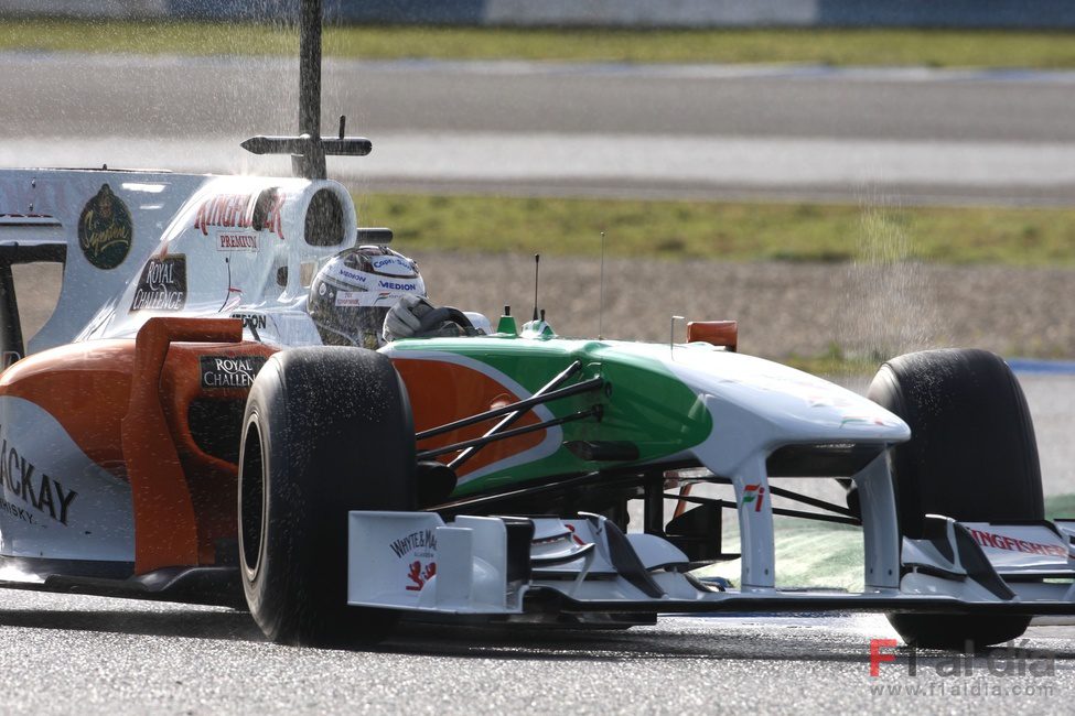
<svg viewBox="0 0 1075 716">
<path fill-rule="evenodd" d="M 282 22 L 6 18 L 0 23 L 0 50 L 293 57 L 298 37 Z M 324 50 L 332 56 L 365 59 L 1075 67 L 1072 33 L 1044 31 L 329 26 Z"/>
</svg>

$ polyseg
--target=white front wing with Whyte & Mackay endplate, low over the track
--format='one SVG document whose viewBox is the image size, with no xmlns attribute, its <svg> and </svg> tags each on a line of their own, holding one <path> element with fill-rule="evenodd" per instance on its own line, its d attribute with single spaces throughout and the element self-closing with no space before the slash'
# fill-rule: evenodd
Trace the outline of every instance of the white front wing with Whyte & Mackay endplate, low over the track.
<svg viewBox="0 0 1075 716">
<path fill-rule="evenodd" d="M 596 514 L 576 519 L 461 516 L 445 523 L 432 512 L 354 511 L 350 513 L 347 599 L 356 607 L 412 615 L 520 621 L 540 615 L 743 610 L 1075 615 L 1072 583 L 1031 581 L 1035 568 L 1025 565 L 991 566 L 972 532 L 988 527 L 993 533 L 1022 534 L 1010 539 L 1024 543 L 1031 539 L 1044 543 L 1045 533 L 1036 529 L 1041 525 L 964 527 L 940 520 L 931 542 L 904 541 L 909 563 L 900 588 L 849 594 L 724 589 L 689 574 L 686 555 L 667 541 L 625 534 Z M 1067 544 L 1071 539 L 1066 530 L 1046 531 L 1053 536 L 1050 544 Z M 952 540 L 949 546 L 946 540 Z M 1030 555 L 1041 563 L 1046 556 L 1042 551 Z M 1013 562 L 1011 555 L 1004 556 Z M 1062 564 L 1067 561 L 1054 555 L 1047 567 L 1038 565 L 1038 573 L 1047 569 L 1054 582 L 1075 578 L 1075 571 Z"/>
</svg>

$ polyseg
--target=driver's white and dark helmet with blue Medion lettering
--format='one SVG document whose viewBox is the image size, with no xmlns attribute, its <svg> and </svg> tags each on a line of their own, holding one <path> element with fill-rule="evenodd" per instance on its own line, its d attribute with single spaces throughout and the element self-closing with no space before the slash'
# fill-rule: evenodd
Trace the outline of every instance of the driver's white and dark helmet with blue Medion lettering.
<svg viewBox="0 0 1075 716">
<path fill-rule="evenodd" d="M 359 246 L 321 267 L 307 310 L 325 345 L 375 349 L 388 310 L 407 294 L 426 297 L 418 264 L 387 247 Z"/>
</svg>

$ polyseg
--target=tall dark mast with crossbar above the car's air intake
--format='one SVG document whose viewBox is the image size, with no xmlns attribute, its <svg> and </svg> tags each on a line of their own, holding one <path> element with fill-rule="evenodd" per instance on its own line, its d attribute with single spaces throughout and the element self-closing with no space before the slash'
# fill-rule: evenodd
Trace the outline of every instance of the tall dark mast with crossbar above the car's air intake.
<svg viewBox="0 0 1075 716">
<path fill-rule="evenodd" d="M 251 137 L 240 147 L 254 154 L 290 154 L 291 171 L 309 180 L 327 177 L 326 155 L 365 156 L 373 142 L 344 137 L 346 120 L 340 118 L 338 137 L 321 135 L 321 0 L 302 0 L 299 11 L 299 135 Z"/>
</svg>

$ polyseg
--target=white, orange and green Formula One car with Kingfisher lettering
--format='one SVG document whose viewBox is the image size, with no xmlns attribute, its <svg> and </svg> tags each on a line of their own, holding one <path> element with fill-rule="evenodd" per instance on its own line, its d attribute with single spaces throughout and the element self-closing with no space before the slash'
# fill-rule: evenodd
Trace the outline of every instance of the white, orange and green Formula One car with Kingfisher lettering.
<svg viewBox="0 0 1075 716">
<path fill-rule="evenodd" d="M 304 75 L 319 33 L 307 23 Z M 737 352 L 730 322 L 685 344 L 505 315 L 485 336 L 322 345 L 311 279 L 387 235 L 356 230 L 324 177 L 324 154 L 368 141 L 319 139 L 307 117 L 301 137 L 245 143 L 295 155 L 298 178 L 0 172 L 2 586 L 249 608 L 300 643 L 400 618 L 870 610 L 963 647 L 1075 614 L 1075 523 L 1043 520 L 1026 405 L 991 354 L 896 358 L 868 400 Z M 28 262 L 63 263 L 63 284 L 24 343 L 12 267 Z M 784 477 L 842 479 L 848 507 Z M 864 590 L 777 588 L 781 513 L 861 524 Z M 738 588 L 692 573 L 732 557 Z"/>
</svg>

